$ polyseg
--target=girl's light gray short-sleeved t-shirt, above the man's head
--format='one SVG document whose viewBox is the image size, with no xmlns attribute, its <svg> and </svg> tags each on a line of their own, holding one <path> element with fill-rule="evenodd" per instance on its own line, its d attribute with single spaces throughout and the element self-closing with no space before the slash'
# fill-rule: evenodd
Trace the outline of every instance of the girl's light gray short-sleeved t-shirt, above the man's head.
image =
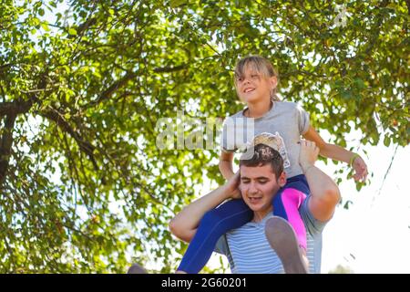
<svg viewBox="0 0 410 292">
<path fill-rule="evenodd" d="M 287 177 L 302 174 L 299 165 L 300 144 L 309 129 L 309 114 L 297 103 L 275 101 L 272 109 L 261 118 L 247 118 L 243 110 L 227 118 L 223 125 L 222 151 L 243 151 L 255 135 L 262 132 L 279 133 L 282 137 L 289 162 L 285 162 Z"/>
</svg>

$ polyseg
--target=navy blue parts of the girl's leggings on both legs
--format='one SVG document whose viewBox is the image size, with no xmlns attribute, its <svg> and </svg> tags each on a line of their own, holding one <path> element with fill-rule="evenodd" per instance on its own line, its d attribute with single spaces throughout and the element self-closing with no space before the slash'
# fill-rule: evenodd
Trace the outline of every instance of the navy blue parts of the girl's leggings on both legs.
<svg viewBox="0 0 410 292">
<path fill-rule="evenodd" d="M 303 174 L 289 178 L 286 184 L 273 197 L 273 214 L 288 220 L 282 203 L 282 192 L 293 188 L 306 195 L 310 194 L 309 185 Z M 231 229 L 247 224 L 253 218 L 253 212 L 241 199 L 231 200 L 220 204 L 202 217 L 197 233 L 192 238 L 178 270 L 189 274 L 197 274 L 208 263 L 210 255 L 221 235 Z"/>
</svg>

